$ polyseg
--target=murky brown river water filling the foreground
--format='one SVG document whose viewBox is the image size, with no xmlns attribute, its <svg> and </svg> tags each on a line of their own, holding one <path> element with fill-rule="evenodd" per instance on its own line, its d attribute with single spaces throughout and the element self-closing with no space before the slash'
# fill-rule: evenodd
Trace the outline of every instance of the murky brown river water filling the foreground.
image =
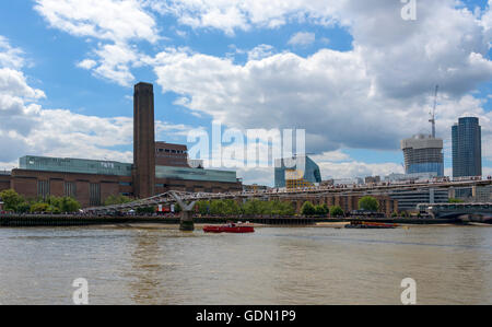
<svg viewBox="0 0 492 327">
<path fill-rule="evenodd" d="M 492 227 L 259 227 L 181 233 L 162 225 L 0 229 L 0 303 L 492 304 Z"/>
</svg>

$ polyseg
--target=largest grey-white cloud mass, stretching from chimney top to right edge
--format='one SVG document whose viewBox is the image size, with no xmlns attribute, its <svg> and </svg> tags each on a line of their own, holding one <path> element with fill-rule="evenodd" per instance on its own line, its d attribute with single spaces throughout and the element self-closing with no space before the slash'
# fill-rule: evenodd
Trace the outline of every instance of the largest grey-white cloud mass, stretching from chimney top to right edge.
<svg viewBox="0 0 492 327">
<path fill-rule="evenodd" d="M 235 65 L 168 48 L 150 65 L 163 91 L 186 97 L 183 105 L 192 112 L 239 128 L 305 128 L 314 151 L 398 149 L 401 138 L 429 130 L 435 84 L 440 135 L 467 112 L 487 122 L 490 114 L 468 95 L 492 78 L 481 23 L 446 0 L 429 1 L 410 24 L 400 4 L 340 1 L 340 22 L 354 37 L 350 51 L 282 52 Z"/>
</svg>

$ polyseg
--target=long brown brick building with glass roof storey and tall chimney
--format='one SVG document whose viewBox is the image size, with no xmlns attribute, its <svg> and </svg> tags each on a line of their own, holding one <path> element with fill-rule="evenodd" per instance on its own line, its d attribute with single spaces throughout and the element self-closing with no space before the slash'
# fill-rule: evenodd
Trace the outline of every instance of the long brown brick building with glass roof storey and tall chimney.
<svg viewBox="0 0 492 327">
<path fill-rule="evenodd" d="M 134 86 L 133 114 L 133 163 L 26 155 L 19 168 L 0 174 L 0 191 L 12 188 L 33 199 L 73 197 L 84 208 L 117 195 L 144 198 L 167 190 L 243 189 L 236 172 L 191 167 L 186 145 L 155 141 L 152 84 Z"/>
</svg>

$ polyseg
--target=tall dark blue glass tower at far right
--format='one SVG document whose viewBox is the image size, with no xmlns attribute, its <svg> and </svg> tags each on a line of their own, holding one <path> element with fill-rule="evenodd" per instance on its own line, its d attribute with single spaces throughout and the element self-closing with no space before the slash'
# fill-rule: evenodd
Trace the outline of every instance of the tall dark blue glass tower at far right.
<svg viewBox="0 0 492 327">
<path fill-rule="evenodd" d="M 482 175 L 482 137 L 479 119 L 462 117 L 452 128 L 453 177 Z"/>
</svg>

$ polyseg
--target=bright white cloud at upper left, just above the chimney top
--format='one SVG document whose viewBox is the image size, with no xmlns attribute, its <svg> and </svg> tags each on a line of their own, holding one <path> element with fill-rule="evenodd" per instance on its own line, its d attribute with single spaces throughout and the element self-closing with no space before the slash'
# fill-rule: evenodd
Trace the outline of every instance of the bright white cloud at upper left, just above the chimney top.
<svg viewBox="0 0 492 327">
<path fill-rule="evenodd" d="M 78 67 L 122 86 L 134 80 L 130 68 L 139 65 L 133 42 L 160 39 L 156 23 L 138 0 L 36 0 L 35 9 L 54 28 L 79 37 L 99 39 L 92 56 Z"/>
</svg>

